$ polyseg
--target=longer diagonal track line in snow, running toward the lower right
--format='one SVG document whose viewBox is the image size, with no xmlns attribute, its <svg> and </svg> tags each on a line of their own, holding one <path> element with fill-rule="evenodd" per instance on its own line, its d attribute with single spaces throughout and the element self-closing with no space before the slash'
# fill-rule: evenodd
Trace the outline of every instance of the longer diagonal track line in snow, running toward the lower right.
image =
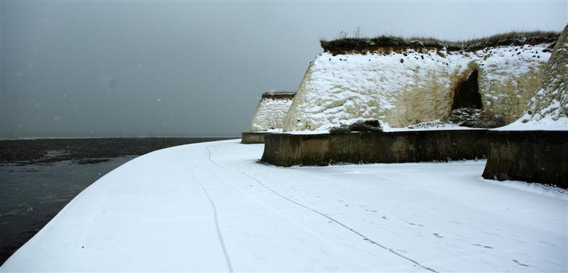
<svg viewBox="0 0 568 273">
<path fill-rule="evenodd" d="M 207 158 L 209 159 L 209 162 L 211 162 L 212 164 L 217 165 L 217 166 L 219 166 L 219 167 L 222 167 L 222 168 L 224 168 L 224 169 L 229 169 L 228 167 L 225 167 L 225 166 L 223 166 L 223 165 L 220 165 L 219 163 L 214 162 L 214 160 L 211 159 L 211 150 L 209 150 L 209 147 L 211 147 L 211 146 L 205 147 L 205 148 L 207 149 L 208 154 L 209 154 L 209 155 L 207 156 Z M 233 170 L 233 169 L 229 169 L 229 170 Z M 422 265 L 422 264 L 420 264 L 420 262 L 416 262 L 415 260 L 411 259 L 410 257 L 406 257 L 405 255 L 402 255 L 402 254 L 396 252 L 396 250 L 393 250 L 393 249 L 390 248 L 390 247 L 386 247 L 386 246 L 381 245 L 380 243 L 378 243 L 378 242 L 376 242 L 376 241 L 374 241 L 374 240 L 371 240 L 371 238 L 368 238 L 367 236 L 363 235 L 362 233 L 359 233 L 359 231 L 356 231 L 356 230 L 354 230 L 353 228 L 349 228 L 348 225 L 345 225 L 344 223 L 342 223 L 342 222 L 340 222 L 340 221 L 337 221 L 336 219 L 332 218 L 331 216 L 326 215 L 325 213 L 322 213 L 322 212 L 320 212 L 320 211 L 317 211 L 315 208 L 310 208 L 309 206 L 305 206 L 304 204 L 301 204 L 301 203 L 299 203 L 299 202 L 297 202 L 297 201 L 294 201 L 294 200 L 292 200 L 292 199 L 289 199 L 289 198 L 286 197 L 286 196 L 283 196 L 282 194 L 279 194 L 278 191 L 275 191 L 275 190 L 271 189 L 269 186 L 266 186 L 265 184 L 263 184 L 263 182 L 261 182 L 260 180 L 256 179 L 255 177 L 250 176 L 249 174 L 246 174 L 245 172 L 241 171 L 240 169 L 236 169 L 236 172 L 238 172 L 239 174 L 244 175 L 244 176 L 246 176 L 246 177 L 249 177 L 250 179 L 253 179 L 256 183 L 258 183 L 259 185 L 263 186 L 263 188 L 267 189 L 268 191 L 271 191 L 273 194 L 276 194 L 276 195 L 279 196 L 280 198 L 285 199 L 285 200 L 287 200 L 287 201 L 290 201 L 290 202 L 292 202 L 293 204 L 296 204 L 297 206 L 301 206 L 302 208 L 305 208 L 305 209 L 307 209 L 307 210 L 310 210 L 310 211 L 313 211 L 313 212 L 315 212 L 315 213 L 317 213 L 317 214 L 320 214 L 320 216 L 324 216 L 325 218 L 329 219 L 329 221 L 332 221 L 332 222 L 334 222 L 334 223 L 337 223 L 338 225 L 342 226 L 342 227 L 345 228 L 346 230 L 351 231 L 351 233 L 354 233 L 354 234 L 358 235 L 359 237 L 363 238 L 363 240 L 368 241 L 368 243 L 372 243 L 373 245 L 377 245 L 378 247 L 381 247 L 381 248 L 383 248 L 384 250 L 387 250 L 388 252 L 391 252 L 391 253 L 393 253 L 394 255 L 397 255 L 398 257 L 403 258 L 404 260 L 408 260 L 409 262 L 412 262 L 413 264 L 416 264 L 417 266 L 422 267 L 423 269 L 426 269 L 426 270 L 428 270 L 428 271 L 430 271 L 430 272 L 438 273 L 435 269 L 432 269 L 432 268 L 430 268 L 430 267 L 427 267 L 427 266 L 425 266 L 425 265 Z M 192 175 L 193 175 L 193 173 L 192 173 Z"/>
</svg>

